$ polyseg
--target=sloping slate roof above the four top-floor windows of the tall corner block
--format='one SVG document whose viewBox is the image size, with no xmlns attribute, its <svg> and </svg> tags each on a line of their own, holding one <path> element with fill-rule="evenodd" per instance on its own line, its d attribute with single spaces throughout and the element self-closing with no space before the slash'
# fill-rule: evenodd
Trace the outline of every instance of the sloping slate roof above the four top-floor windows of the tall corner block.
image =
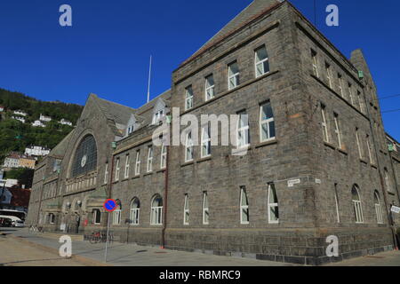
<svg viewBox="0 0 400 284">
<path fill-rule="evenodd" d="M 222 28 L 215 36 L 212 36 L 212 38 L 207 43 L 204 43 L 204 45 L 184 63 L 188 62 L 190 59 L 193 59 L 198 54 L 211 47 L 213 44 L 218 43 L 226 36 L 234 33 L 237 29 L 244 27 L 247 23 L 256 19 L 264 12 L 267 12 L 276 4 L 282 2 L 284 2 L 284 0 L 253 0 L 252 4 L 248 5 L 233 20 L 229 21 L 224 28 Z"/>
</svg>

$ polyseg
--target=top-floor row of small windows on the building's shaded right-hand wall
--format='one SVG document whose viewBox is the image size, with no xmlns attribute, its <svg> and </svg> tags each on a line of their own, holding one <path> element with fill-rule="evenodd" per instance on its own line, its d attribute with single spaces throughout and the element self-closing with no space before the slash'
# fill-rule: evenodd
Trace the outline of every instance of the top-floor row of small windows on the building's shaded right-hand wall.
<svg viewBox="0 0 400 284">
<path fill-rule="evenodd" d="M 317 78 L 320 77 L 319 75 L 319 64 L 316 51 L 311 50 L 311 57 L 312 57 L 312 66 L 313 66 L 313 73 L 316 75 Z M 325 71 L 325 78 L 326 82 L 328 83 L 329 87 L 337 91 L 343 99 L 347 99 L 351 102 L 352 106 L 356 106 L 356 99 L 358 100 L 358 106 L 360 111 L 365 114 L 365 102 L 364 98 L 360 91 L 356 91 L 356 95 L 353 91 L 353 86 L 351 83 L 344 83 L 343 76 L 338 73 L 335 77 L 332 75 L 332 67 L 329 63 L 325 62 L 324 66 Z M 334 87 L 336 85 L 336 87 Z"/>
</svg>

